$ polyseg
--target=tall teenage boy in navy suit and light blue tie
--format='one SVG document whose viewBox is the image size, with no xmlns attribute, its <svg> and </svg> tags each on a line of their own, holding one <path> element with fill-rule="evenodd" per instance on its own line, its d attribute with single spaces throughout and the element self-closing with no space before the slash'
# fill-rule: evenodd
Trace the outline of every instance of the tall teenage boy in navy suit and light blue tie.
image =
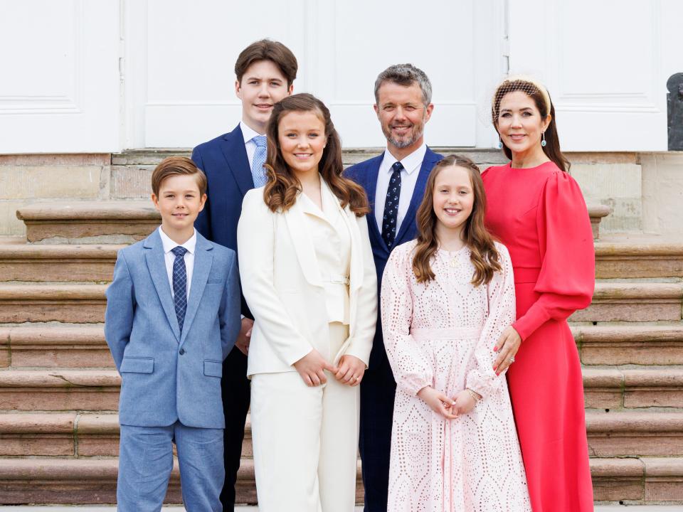
<svg viewBox="0 0 683 512">
<path fill-rule="evenodd" d="M 242 101 L 240 124 L 232 132 L 199 144 L 192 151 L 192 160 L 208 178 L 206 207 L 195 226 L 208 240 L 233 250 L 237 250 L 242 199 L 251 188 L 265 184 L 265 127 L 272 106 L 292 93 L 297 59 L 282 43 L 263 39 L 240 53 L 235 75 L 235 94 Z M 235 506 L 235 482 L 249 410 L 247 353 L 254 321 L 244 298 L 242 315 L 235 348 L 223 363 L 226 482 L 221 502 L 225 511 L 233 511 Z"/>
</svg>

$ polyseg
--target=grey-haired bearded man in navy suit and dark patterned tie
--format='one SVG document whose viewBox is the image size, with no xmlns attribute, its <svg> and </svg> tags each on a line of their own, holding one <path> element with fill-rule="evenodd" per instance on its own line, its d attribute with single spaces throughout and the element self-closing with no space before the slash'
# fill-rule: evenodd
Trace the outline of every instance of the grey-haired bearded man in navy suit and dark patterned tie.
<svg viewBox="0 0 683 512">
<path fill-rule="evenodd" d="M 424 142 L 425 123 L 434 109 L 431 99 L 429 78 L 412 64 L 393 65 L 382 71 L 375 81 L 374 109 L 386 137 L 386 150 L 346 169 L 346 176 L 365 188 L 372 208 L 366 218 L 378 287 L 391 250 L 415 238 L 415 211 L 425 193 L 427 176 L 443 158 Z M 396 381 L 378 319 L 369 369 L 361 383 L 359 447 L 365 512 L 386 511 L 395 393 Z"/>
</svg>

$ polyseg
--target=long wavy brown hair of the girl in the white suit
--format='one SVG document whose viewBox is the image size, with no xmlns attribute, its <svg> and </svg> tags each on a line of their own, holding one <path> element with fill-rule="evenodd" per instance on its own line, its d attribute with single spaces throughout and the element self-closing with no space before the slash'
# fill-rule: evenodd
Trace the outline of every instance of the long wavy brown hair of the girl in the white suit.
<svg viewBox="0 0 683 512">
<path fill-rule="evenodd" d="M 280 149 L 279 125 L 280 119 L 289 112 L 314 112 L 325 126 L 327 144 L 322 150 L 322 158 L 318 164 L 318 171 L 327 181 L 332 193 L 339 199 L 342 208 L 346 205 L 357 217 L 369 213 L 368 198 L 364 189 L 342 176 L 342 141 L 337 130 L 334 129 L 329 110 L 324 103 L 309 94 L 287 96 L 272 107 L 272 114 L 268 120 L 266 135 L 268 136 L 268 157 L 265 161 L 265 171 L 268 183 L 263 190 L 263 201 L 272 212 L 287 211 L 297 200 L 297 194 L 302 190 L 301 182 L 287 166 Z"/>
</svg>

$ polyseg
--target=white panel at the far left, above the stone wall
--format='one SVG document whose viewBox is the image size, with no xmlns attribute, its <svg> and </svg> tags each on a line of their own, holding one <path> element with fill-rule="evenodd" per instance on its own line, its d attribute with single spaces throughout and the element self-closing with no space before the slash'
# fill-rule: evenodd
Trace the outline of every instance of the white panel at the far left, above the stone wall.
<svg viewBox="0 0 683 512">
<path fill-rule="evenodd" d="M 0 153 L 119 139 L 119 1 L 0 0 Z"/>
</svg>

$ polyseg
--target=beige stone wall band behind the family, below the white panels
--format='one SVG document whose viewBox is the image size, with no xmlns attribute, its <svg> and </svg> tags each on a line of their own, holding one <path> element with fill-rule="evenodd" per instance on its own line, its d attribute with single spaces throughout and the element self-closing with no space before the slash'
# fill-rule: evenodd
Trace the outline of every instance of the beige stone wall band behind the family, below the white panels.
<svg viewBox="0 0 683 512">
<path fill-rule="evenodd" d="M 504 163 L 498 150 L 435 148 L 466 154 L 486 169 Z M 379 149 L 346 149 L 344 165 L 371 158 Z M 25 235 L 16 209 L 43 201 L 149 198 L 154 166 L 189 149 L 140 149 L 122 154 L 0 155 L 0 235 Z M 568 153 L 571 174 L 586 202 L 612 213 L 602 233 L 650 233 L 683 238 L 683 152 Z"/>
</svg>

